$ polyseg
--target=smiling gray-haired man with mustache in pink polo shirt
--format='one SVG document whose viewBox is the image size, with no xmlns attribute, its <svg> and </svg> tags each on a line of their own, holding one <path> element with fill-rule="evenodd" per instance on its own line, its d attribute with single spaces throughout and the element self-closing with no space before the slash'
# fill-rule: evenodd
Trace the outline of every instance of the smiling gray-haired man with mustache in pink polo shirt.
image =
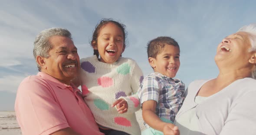
<svg viewBox="0 0 256 135">
<path fill-rule="evenodd" d="M 79 55 L 67 29 L 46 29 L 36 36 L 39 73 L 17 90 L 15 111 L 23 135 L 103 135 L 71 83 L 79 73 Z"/>
</svg>

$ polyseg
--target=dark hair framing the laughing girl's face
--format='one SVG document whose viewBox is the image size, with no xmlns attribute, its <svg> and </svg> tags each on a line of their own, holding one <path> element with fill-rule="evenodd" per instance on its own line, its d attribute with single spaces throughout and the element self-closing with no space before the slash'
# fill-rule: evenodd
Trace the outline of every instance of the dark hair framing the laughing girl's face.
<svg viewBox="0 0 256 135">
<path fill-rule="evenodd" d="M 108 23 L 114 23 L 116 26 L 118 26 L 121 31 L 123 32 L 123 37 L 124 37 L 124 47 L 126 47 L 127 45 L 127 41 L 125 41 L 126 37 L 127 37 L 127 31 L 125 30 L 125 25 L 118 22 L 118 21 L 115 21 L 114 19 L 112 18 L 103 18 L 101 19 L 101 21 L 95 26 L 95 30 L 93 32 L 93 35 L 92 35 L 92 41 L 91 41 L 91 45 L 92 47 L 97 45 L 98 41 L 98 34 L 100 33 L 100 30 Z M 95 50 L 93 49 L 94 53 L 93 55 L 96 55 L 97 57 L 99 56 L 98 54 L 98 50 Z"/>
</svg>

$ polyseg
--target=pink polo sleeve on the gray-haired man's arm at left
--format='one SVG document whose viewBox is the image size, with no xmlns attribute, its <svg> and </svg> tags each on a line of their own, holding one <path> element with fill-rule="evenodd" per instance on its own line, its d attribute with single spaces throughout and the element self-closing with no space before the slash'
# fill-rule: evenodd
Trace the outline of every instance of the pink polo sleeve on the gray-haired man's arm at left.
<svg viewBox="0 0 256 135">
<path fill-rule="evenodd" d="M 68 128 L 66 117 L 50 88 L 38 82 L 25 80 L 17 90 L 15 112 L 23 134 L 49 135 Z"/>
</svg>

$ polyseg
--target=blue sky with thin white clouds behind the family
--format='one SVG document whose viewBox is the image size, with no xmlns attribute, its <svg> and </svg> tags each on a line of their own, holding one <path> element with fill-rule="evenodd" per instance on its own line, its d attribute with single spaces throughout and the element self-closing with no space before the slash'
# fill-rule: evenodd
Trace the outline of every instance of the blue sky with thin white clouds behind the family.
<svg viewBox="0 0 256 135">
<path fill-rule="evenodd" d="M 146 44 L 171 36 L 181 48 L 176 78 L 186 84 L 218 74 L 217 45 L 240 27 L 256 23 L 255 0 L 1 0 L 0 111 L 14 110 L 16 90 L 23 78 L 37 74 L 33 42 L 43 29 L 69 29 L 80 58 L 93 54 L 89 41 L 102 18 L 126 25 L 128 47 L 144 75 L 152 72 Z"/>
</svg>

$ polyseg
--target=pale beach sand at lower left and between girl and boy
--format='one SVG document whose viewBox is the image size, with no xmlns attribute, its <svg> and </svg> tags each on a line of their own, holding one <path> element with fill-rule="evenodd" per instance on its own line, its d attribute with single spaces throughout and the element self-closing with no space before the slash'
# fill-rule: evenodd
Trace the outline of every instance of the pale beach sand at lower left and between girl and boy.
<svg viewBox="0 0 256 135">
<path fill-rule="evenodd" d="M 141 110 L 136 112 L 141 130 L 144 130 Z M 22 135 L 14 111 L 0 111 L 0 135 Z"/>
</svg>

